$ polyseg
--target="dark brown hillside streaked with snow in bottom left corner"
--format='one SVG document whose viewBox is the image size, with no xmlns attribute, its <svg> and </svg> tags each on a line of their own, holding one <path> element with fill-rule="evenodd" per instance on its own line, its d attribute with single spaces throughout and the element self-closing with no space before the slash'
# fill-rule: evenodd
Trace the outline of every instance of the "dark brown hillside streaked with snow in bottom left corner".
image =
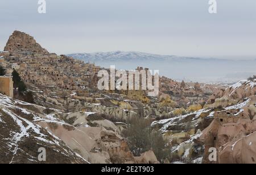
<svg viewBox="0 0 256 175">
<path fill-rule="evenodd" d="M 37 124 L 47 118 L 44 110 L 0 94 L 0 163 L 40 163 L 39 148 L 47 153 L 42 163 L 88 163 Z"/>
</svg>

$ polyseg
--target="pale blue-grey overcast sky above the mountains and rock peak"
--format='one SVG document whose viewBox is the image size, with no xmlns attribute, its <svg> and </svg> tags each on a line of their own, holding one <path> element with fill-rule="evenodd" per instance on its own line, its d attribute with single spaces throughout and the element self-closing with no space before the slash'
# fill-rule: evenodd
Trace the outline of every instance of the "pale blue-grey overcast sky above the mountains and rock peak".
<svg viewBox="0 0 256 175">
<path fill-rule="evenodd" d="M 50 52 L 141 51 L 180 56 L 256 55 L 256 1 L 0 0 L 0 50 L 14 30 Z M 256 58 L 256 57 L 255 57 Z"/>
</svg>

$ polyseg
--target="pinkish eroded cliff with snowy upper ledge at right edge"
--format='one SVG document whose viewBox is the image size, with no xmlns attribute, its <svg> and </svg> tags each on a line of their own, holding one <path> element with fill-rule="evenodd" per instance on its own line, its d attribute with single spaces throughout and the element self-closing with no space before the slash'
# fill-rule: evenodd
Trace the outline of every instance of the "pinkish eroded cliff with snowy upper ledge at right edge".
<svg viewBox="0 0 256 175">
<path fill-rule="evenodd" d="M 216 94 L 212 105 L 226 107 L 216 111 L 214 121 L 203 131 L 200 140 L 205 143 L 204 163 L 210 147 L 217 148 L 217 163 L 255 164 L 256 134 L 256 79 L 243 80 Z"/>
</svg>

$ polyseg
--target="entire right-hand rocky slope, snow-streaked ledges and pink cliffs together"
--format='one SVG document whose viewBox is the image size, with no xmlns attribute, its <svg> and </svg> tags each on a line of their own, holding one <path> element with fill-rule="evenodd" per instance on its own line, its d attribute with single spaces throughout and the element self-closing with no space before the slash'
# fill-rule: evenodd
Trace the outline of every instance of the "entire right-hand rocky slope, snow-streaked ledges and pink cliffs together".
<svg viewBox="0 0 256 175">
<path fill-rule="evenodd" d="M 171 145 L 173 163 L 255 164 L 255 93 L 256 79 L 243 80 L 218 91 L 204 109 L 155 121 L 152 127 Z M 210 148 L 217 149 L 216 161 L 209 160 Z"/>
</svg>

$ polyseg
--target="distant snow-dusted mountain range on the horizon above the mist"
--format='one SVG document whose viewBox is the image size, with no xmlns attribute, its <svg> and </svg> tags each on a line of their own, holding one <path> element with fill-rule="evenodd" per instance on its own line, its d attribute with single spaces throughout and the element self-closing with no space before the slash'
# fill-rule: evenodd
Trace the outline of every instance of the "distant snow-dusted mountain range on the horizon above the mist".
<svg viewBox="0 0 256 175">
<path fill-rule="evenodd" d="M 209 60 L 196 57 L 180 57 L 174 55 L 155 55 L 151 53 L 143 52 L 95 52 L 95 53 L 73 53 L 68 56 L 72 56 L 75 59 L 84 61 L 188 61 L 188 60 Z M 218 59 L 210 59 L 218 60 Z"/>
</svg>

